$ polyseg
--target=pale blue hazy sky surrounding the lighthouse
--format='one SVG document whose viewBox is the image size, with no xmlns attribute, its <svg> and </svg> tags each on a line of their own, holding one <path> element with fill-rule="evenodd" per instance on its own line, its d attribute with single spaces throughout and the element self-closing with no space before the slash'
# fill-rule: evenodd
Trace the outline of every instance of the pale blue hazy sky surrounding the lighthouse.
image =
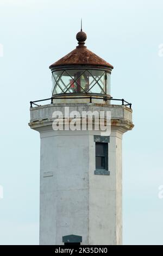
<svg viewBox="0 0 163 256">
<path fill-rule="evenodd" d="M 123 137 L 123 243 L 163 245 L 163 2 L 0 0 L 0 244 L 39 243 L 39 133 L 29 101 L 51 96 L 48 66 L 73 50 L 83 17 L 86 45 L 114 65 L 111 95 L 133 103 Z"/>
</svg>

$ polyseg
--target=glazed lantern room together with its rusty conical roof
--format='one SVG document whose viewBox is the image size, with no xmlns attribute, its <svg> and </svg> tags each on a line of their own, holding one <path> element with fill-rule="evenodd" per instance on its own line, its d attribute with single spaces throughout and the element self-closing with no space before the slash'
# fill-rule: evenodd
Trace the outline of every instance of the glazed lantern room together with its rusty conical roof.
<svg viewBox="0 0 163 256">
<path fill-rule="evenodd" d="M 52 71 L 52 97 L 110 97 L 110 75 L 113 66 L 87 49 L 84 45 L 87 36 L 82 29 L 76 38 L 76 49 L 49 66 Z"/>
</svg>

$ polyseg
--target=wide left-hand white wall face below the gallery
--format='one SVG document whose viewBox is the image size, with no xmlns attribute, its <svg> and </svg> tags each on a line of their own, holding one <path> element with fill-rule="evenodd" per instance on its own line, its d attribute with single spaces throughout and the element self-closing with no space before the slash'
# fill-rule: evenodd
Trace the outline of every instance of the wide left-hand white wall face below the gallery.
<svg viewBox="0 0 163 256">
<path fill-rule="evenodd" d="M 88 242 L 89 140 L 72 131 L 41 134 L 40 244 L 61 245 L 62 236 Z M 49 175 L 53 176 L 47 176 Z"/>
</svg>

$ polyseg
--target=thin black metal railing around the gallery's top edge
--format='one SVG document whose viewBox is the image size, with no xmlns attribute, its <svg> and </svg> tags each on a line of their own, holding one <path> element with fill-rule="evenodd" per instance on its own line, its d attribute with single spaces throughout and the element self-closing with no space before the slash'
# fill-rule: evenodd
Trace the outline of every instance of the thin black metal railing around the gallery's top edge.
<svg viewBox="0 0 163 256">
<path fill-rule="evenodd" d="M 33 105 L 41 106 L 41 105 L 36 104 L 36 102 L 51 100 L 51 104 L 53 104 L 55 100 L 59 100 L 59 99 L 90 99 L 90 103 L 92 103 L 92 99 L 96 99 L 96 100 L 103 99 L 104 101 L 106 101 L 106 100 L 121 101 L 122 105 L 129 106 L 129 108 L 131 108 L 131 105 L 132 105 L 131 103 L 127 102 L 124 99 L 113 99 L 112 97 L 106 97 L 106 96 L 101 96 L 101 97 L 89 96 L 89 97 L 51 97 L 51 98 L 43 99 L 43 100 L 30 101 L 30 107 L 33 107 Z"/>
</svg>

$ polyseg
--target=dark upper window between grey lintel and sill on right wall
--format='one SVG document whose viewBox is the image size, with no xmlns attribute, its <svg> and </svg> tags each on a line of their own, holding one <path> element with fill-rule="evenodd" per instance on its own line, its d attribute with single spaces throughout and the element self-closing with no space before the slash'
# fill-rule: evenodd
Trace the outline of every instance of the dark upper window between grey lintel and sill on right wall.
<svg viewBox="0 0 163 256">
<path fill-rule="evenodd" d="M 96 142 L 96 169 L 108 170 L 108 143 Z"/>
</svg>

